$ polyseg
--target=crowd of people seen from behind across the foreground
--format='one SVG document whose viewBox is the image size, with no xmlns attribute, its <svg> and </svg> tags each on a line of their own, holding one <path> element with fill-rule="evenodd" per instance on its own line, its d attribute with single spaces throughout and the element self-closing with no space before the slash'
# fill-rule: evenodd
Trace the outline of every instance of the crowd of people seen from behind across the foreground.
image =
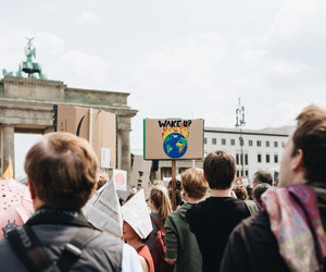
<svg viewBox="0 0 326 272">
<path fill-rule="evenodd" d="M 25 161 L 35 213 L 0 240 L 1 268 L 326 271 L 326 111 L 310 106 L 297 121 L 278 181 L 258 170 L 253 188 L 235 185 L 235 159 L 216 150 L 202 169 L 181 174 L 176 210 L 163 184 L 148 199 L 135 190 L 121 201 L 122 237 L 97 230 L 82 212 L 100 187 L 92 148 L 68 133 L 47 134 Z"/>
</svg>

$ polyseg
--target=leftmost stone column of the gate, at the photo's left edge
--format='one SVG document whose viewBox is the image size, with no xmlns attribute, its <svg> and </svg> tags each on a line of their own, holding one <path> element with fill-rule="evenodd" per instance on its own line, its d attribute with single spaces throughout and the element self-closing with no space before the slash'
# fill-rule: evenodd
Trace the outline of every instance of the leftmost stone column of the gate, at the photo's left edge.
<svg viewBox="0 0 326 272">
<path fill-rule="evenodd" d="M 9 156 L 12 160 L 12 166 L 14 171 L 14 126 L 12 125 L 4 125 L 3 126 L 3 172 L 7 170 L 9 164 Z"/>
</svg>

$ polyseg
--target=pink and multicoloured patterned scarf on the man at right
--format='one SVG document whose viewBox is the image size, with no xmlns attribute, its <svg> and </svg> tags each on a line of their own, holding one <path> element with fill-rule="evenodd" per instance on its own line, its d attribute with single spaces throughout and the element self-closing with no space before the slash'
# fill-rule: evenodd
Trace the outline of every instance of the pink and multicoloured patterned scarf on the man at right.
<svg viewBox="0 0 326 272">
<path fill-rule="evenodd" d="M 279 254 L 291 271 L 323 271 L 326 235 L 315 190 L 303 184 L 268 189 L 263 196 Z"/>
</svg>

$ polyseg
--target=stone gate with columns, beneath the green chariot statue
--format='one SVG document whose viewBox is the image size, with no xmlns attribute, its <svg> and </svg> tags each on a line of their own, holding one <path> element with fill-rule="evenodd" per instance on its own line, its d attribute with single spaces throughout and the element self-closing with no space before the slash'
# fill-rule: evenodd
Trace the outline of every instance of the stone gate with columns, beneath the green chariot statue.
<svg viewBox="0 0 326 272">
<path fill-rule="evenodd" d="M 117 166 L 130 174 L 131 118 L 127 92 L 70 88 L 63 82 L 4 76 L 0 82 L 0 172 L 14 161 L 14 133 L 52 131 L 53 104 L 102 109 L 117 115 Z"/>
</svg>

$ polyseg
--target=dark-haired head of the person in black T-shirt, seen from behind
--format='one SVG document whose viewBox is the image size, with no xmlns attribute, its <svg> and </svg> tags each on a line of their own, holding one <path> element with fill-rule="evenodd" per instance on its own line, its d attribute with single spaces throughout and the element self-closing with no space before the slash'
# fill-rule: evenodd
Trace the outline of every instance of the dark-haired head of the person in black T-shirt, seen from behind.
<svg viewBox="0 0 326 272">
<path fill-rule="evenodd" d="M 228 189 L 236 176 L 235 158 L 225 150 L 208 154 L 203 171 L 211 189 Z"/>
</svg>

